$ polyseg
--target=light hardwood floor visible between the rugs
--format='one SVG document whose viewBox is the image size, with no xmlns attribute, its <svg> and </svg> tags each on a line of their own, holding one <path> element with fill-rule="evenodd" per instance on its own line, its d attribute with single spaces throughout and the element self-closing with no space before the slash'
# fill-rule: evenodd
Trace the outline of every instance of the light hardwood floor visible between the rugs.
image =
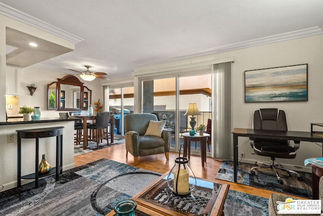
<svg viewBox="0 0 323 216">
<path fill-rule="evenodd" d="M 169 161 L 166 160 L 165 154 L 139 157 L 138 165 L 136 167 L 151 170 L 151 171 L 156 171 L 163 174 L 166 171 L 171 170 L 171 168 L 175 164 L 174 160 L 178 156 L 179 156 L 178 153 L 171 152 Z M 74 162 L 75 162 L 75 166 L 80 166 L 95 160 L 99 160 L 101 158 L 106 158 L 106 159 L 115 160 L 121 163 L 133 165 L 133 156 L 131 154 L 128 154 L 128 157 L 126 157 L 125 144 L 115 145 L 108 148 L 96 150 L 94 152 L 89 152 L 86 154 L 75 156 Z M 194 175 L 196 177 L 214 181 L 216 179 L 221 163 L 222 163 L 221 160 L 214 160 L 208 157 L 206 159 L 206 163 L 204 167 L 202 167 L 201 157 L 191 155 L 189 166 L 193 170 Z M 274 193 L 273 191 L 253 188 L 250 186 L 241 185 L 237 183 L 229 183 L 221 180 L 219 180 L 219 182 L 230 184 L 231 190 L 236 190 L 236 191 L 262 196 L 266 198 L 269 198 L 270 195 Z M 290 196 L 290 197 L 293 197 L 293 196 Z"/>
</svg>

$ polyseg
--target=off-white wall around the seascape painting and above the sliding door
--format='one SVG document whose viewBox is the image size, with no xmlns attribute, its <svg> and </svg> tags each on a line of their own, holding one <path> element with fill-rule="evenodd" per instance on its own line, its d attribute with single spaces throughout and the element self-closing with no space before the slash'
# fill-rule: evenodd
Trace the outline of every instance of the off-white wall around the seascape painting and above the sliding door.
<svg viewBox="0 0 323 216">
<path fill-rule="evenodd" d="M 270 45 L 257 46 L 236 51 L 224 52 L 204 57 L 180 60 L 158 65 L 150 65 L 136 68 L 134 75 L 141 76 L 144 73 L 160 73 L 165 70 L 187 68 L 225 62 L 226 59 L 234 59 L 232 63 L 231 78 L 231 127 L 252 127 L 252 114 L 259 108 L 279 108 L 287 113 L 287 122 L 290 131 L 310 131 L 311 122 L 323 122 L 323 35 L 304 37 L 294 40 L 276 42 Z M 195 63 L 194 63 L 195 62 Z M 308 64 L 308 101 L 304 102 L 244 102 L 244 71 L 270 67 Z M 138 80 L 135 77 L 135 80 Z M 136 83 L 135 83 L 136 84 Z M 135 91 L 136 92 L 136 91 Z M 135 96 L 135 104 L 137 104 Z M 136 108 L 135 108 L 136 109 Z M 323 128 L 322 128 L 323 129 Z M 242 143 L 245 139 L 239 139 Z M 221 145 L 221 144 L 219 144 Z M 233 152 L 233 151 L 232 151 Z M 241 145 L 239 152 L 246 154 L 243 161 L 253 163 L 256 160 L 268 161 L 269 158 L 253 154 L 249 143 Z M 304 167 L 304 159 L 309 157 L 322 157 L 321 147 L 314 143 L 301 142 L 295 159 L 279 159 L 287 167 L 303 166 L 302 170 L 310 171 L 310 167 Z M 291 165 L 289 165 L 291 164 Z"/>
</svg>

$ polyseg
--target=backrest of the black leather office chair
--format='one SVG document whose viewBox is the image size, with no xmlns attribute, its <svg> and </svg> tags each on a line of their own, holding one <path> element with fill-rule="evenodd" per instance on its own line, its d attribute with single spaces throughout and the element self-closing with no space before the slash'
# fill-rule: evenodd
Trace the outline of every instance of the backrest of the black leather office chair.
<svg viewBox="0 0 323 216">
<path fill-rule="evenodd" d="M 286 114 L 284 110 L 276 108 L 259 109 L 253 114 L 253 129 L 265 129 L 273 131 L 288 131 Z M 254 142 L 273 142 L 274 140 L 265 140 L 256 138 Z M 279 144 L 288 144 L 288 141 L 278 141 Z"/>
</svg>

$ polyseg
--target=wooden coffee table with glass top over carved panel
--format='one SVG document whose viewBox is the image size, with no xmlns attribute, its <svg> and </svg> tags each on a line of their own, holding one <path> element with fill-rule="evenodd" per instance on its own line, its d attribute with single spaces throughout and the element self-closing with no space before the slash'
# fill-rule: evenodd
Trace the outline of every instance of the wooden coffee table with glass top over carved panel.
<svg viewBox="0 0 323 216">
<path fill-rule="evenodd" d="M 224 215 L 223 208 L 230 185 L 196 178 L 197 185 L 191 197 L 176 197 L 167 185 L 167 175 L 159 177 L 132 197 L 141 210 L 162 215 Z M 145 212 L 145 211 L 143 211 Z M 149 213 L 146 212 L 146 213 Z M 112 214 L 113 215 L 113 214 Z M 149 214 L 148 214 L 149 215 Z"/>
</svg>

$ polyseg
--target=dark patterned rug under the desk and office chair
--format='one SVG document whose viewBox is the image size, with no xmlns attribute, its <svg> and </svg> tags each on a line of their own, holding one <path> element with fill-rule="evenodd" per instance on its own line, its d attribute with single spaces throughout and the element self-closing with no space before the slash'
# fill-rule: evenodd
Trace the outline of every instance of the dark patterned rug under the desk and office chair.
<svg viewBox="0 0 323 216">
<path fill-rule="evenodd" d="M 271 169 L 255 170 L 255 175 L 251 175 L 250 168 L 253 166 L 254 164 L 239 163 L 237 183 L 308 199 L 312 198 L 312 177 L 310 173 L 297 171 L 303 177 L 304 181 L 301 182 L 298 181 L 296 176 L 288 177 L 286 172 L 279 171 L 279 174 L 283 177 L 281 180 L 284 182 L 281 185 L 277 180 L 275 172 Z M 223 161 L 216 179 L 233 182 L 233 176 L 233 162 Z"/>
</svg>

